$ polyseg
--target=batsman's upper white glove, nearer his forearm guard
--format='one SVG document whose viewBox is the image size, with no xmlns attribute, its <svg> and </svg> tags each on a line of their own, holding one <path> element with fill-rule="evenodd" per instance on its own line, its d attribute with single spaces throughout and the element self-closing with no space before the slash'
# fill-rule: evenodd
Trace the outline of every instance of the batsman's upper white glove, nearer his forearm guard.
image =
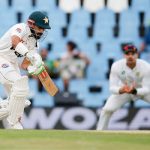
<svg viewBox="0 0 150 150">
<path fill-rule="evenodd" d="M 28 52 L 26 54 L 26 57 L 29 59 L 31 64 L 35 66 L 36 68 L 39 68 L 41 67 L 41 65 L 43 65 L 41 56 L 36 52 Z"/>
</svg>

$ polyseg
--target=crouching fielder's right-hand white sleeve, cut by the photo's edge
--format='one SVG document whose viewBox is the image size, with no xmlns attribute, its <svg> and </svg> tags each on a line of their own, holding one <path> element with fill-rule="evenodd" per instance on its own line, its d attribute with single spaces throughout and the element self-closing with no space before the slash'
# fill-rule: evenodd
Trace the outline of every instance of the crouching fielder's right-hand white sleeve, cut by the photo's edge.
<svg viewBox="0 0 150 150">
<path fill-rule="evenodd" d="M 137 88 L 137 95 L 144 96 L 149 93 L 150 93 L 150 69 L 147 69 L 142 80 L 141 88 Z"/>
</svg>

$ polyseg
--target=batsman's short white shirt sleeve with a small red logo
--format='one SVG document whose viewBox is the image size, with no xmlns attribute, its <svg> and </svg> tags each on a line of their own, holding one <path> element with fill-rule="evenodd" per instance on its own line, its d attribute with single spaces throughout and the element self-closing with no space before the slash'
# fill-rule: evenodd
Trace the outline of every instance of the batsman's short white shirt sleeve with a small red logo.
<svg viewBox="0 0 150 150">
<path fill-rule="evenodd" d="M 26 33 L 26 28 L 24 25 L 16 25 L 14 26 L 14 28 L 12 29 L 12 32 L 11 32 L 11 36 L 18 36 L 19 38 L 22 38 Z"/>
</svg>

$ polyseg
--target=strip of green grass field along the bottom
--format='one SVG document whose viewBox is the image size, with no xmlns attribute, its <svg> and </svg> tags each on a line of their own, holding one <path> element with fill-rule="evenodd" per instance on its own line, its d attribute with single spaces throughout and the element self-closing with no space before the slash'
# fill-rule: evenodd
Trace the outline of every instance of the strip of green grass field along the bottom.
<svg viewBox="0 0 150 150">
<path fill-rule="evenodd" d="M 150 150 L 149 131 L 0 130 L 0 150 Z"/>
</svg>

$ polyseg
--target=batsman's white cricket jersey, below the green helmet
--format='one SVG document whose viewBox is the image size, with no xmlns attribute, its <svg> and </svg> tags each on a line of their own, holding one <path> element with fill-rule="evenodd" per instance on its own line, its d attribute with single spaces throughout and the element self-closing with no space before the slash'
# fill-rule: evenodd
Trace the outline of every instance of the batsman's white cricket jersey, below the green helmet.
<svg viewBox="0 0 150 150">
<path fill-rule="evenodd" d="M 7 59 L 10 62 L 17 62 L 17 57 L 22 57 L 20 54 L 12 49 L 11 37 L 16 35 L 20 37 L 22 43 L 27 47 L 29 51 L 35 51 L 37 49 L 37 41 L 31 36 L 30 28 L 25 23 L 19 23 L 12 26 L 1 38 L 0 38 L 0 56 Z"/>
</svg>

